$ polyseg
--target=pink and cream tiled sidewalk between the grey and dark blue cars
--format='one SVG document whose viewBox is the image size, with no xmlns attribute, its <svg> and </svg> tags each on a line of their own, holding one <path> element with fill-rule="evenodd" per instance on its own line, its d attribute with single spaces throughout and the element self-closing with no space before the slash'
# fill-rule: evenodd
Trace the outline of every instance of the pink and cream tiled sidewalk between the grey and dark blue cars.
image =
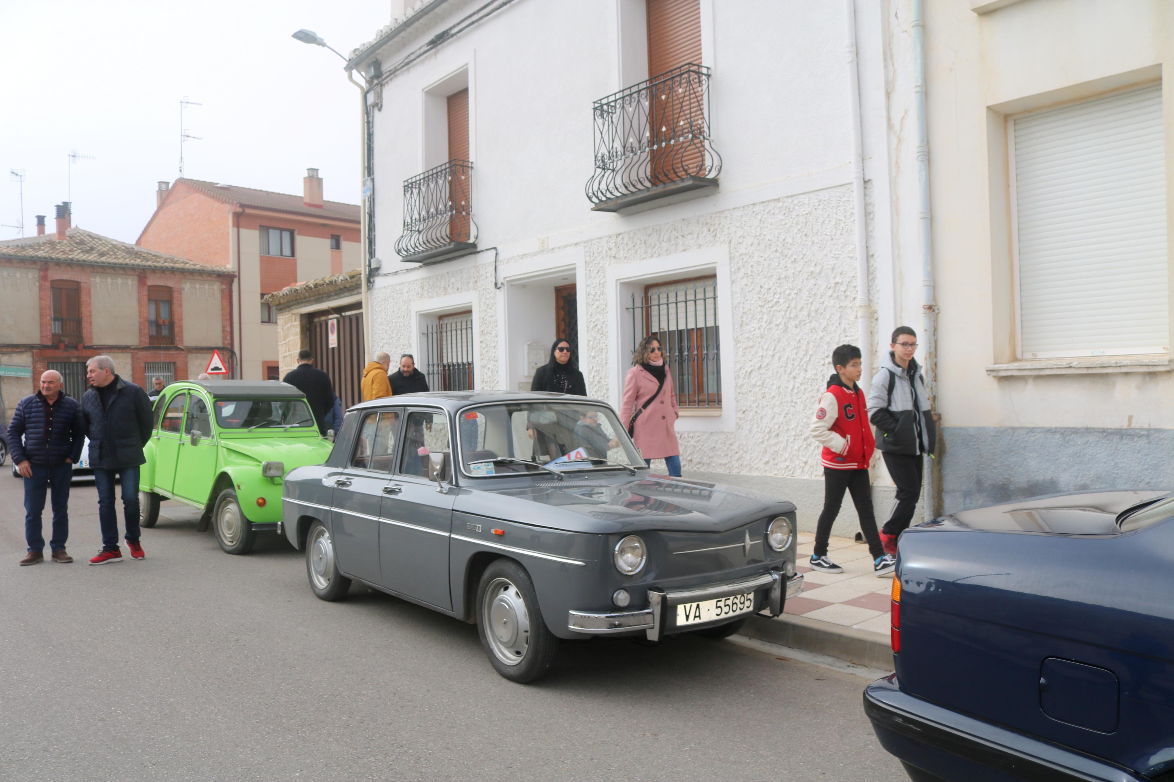
<svg viewBox="0 0 1174 782">
<path fill-rule="evenodd" d="M 814 540 L 812 532 L 798 533 L 796 569 L 804 576 L 804 590 L 787 600 L 784 613 L 877 633 L 888 644 L 892 578 L 876 577 L 866 545 L 837 537 L 828 544 L 828 558 L 844 572 L 814 572 L 807 566 Z"/>
</svg>

